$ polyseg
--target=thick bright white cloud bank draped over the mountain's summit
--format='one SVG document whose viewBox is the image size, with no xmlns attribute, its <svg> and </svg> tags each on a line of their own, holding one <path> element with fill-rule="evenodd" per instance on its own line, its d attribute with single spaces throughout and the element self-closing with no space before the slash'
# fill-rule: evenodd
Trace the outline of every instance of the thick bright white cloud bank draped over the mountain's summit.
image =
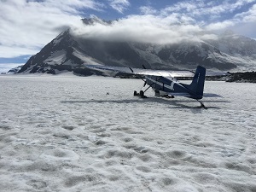
<svg viewBox="0 0 256 192">
<path fill-rule="evenodd" d="M 131 15 L 114 21 L 112 25 L 95 23 L 92 26 L 76 26 L 73 27 L 72 32 L 79 38 L 94 38 L 104 41 L 177 44 L 183 40 L 195 39 L 195 35 L 201 32 L 201 28 L 195 25 L 172 23 L 170 17 Z"/>
</svg>

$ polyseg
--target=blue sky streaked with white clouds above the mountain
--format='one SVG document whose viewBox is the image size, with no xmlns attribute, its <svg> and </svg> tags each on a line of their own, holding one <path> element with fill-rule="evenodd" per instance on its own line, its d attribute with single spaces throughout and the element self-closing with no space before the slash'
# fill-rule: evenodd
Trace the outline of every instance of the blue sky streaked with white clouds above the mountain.
<svg viewBox="0 0 256 192">
<path fill-rule="evenodd" d="M 81 19 L 117 20 L 83 26 Z M 256 39 L 256 0 L 0 0 L 0 73 L 25 64 L 67 28 L 84 38 L 177 43 L 202 31 Z M 214 34 L 200 37 L 214 38 Z"/>
</svg>

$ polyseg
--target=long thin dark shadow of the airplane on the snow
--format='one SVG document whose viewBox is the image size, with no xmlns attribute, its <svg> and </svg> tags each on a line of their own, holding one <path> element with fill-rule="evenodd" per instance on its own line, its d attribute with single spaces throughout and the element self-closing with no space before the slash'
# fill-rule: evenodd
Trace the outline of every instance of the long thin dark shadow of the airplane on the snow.
<svg viewBox="0 0 256 192">
<path fill-rule="evenodd" d="M 201 109 L 200 103 L 195 100 L 176 100 L 176 99 L 166 99 L 166 98 L 137 98 L 137 99 L 123 99 L 123 100 L 72 100 L 72 101 L 61 101 L 61 103 L 159 103 L 159 104 L 165 104 L 167 107 L 170 108 L 190 108 L 190 109 Z M 202 101 L 205 103 L 207 108 L 215 108 L 220 109 L 219 107 L 211 107 L 210 103 L 226 103 L 228 101 Z M 194 106 L 189 106 L 189 104 L 194 103 Z M 209 103 L 209 105 L 207 105 Z"/>
</svg>

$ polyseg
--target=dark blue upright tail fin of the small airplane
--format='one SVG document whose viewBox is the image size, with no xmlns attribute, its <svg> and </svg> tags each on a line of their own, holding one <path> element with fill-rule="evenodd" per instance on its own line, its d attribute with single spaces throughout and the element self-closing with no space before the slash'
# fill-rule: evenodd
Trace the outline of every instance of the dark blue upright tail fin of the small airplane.
<svg viewBox="0 0 256 192">
<path fill-rule="evenodd" d="M 204 85 L 206 79 L 206 68 L 198 66 L 195 71 L 195 76 L 192 83 L 189 84 L 189 90 L 192 90 L 196 95 L 203 96 Z"/>
</svg>

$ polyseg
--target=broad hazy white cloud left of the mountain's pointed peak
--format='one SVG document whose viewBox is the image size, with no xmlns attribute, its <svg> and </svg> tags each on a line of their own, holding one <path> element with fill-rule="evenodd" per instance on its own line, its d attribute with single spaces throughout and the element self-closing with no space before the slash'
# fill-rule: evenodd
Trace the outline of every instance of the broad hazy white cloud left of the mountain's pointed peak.
<svg viewBox="0 0 256 192">
<path fill-rule="evenodd" d="M 0 57 L 35 54 L 64 28 L 80 22 L 79 10 L 102 8 L 92 0 L 0 1 Z"/>
</svg>

